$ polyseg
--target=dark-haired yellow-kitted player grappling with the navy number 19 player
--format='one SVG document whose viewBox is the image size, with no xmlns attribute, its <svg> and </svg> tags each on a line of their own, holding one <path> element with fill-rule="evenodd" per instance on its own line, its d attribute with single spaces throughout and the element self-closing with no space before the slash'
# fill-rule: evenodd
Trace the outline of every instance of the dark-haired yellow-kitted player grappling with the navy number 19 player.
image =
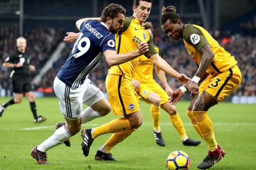
<svg viewBox="0 0 256 170">
<path fill-rule="evenodd" d="M 148 18 L 152 7 L 152 0 L 134 0 L 133 16 L 126 18 L 124 27 L 116 34 L 117 53 L 127 53 L 138 49 L 140 43 L 148 43 L 146 57 L 151 58 L 154 64 L 166 73 L 175 77 L 179 82 L 186 83 L 190 79 L 185 74 L 179 74 L 166 61 L 164 61 L 154 48 L 152 36 L 142 27 Z M 132 86 L 132 77 L 138 59 L 133 59 L 108 70 L 106 89 L 114 115 L 123 115 L 100 127 L 84 129 L 82 131 L 82 150 L 88 156 L 90 146 L 96 137 L 106 133 L 113 133 L 108 141 L 96 152 L 96 160 L 116 160 L 112 157 L 110 149 L 122 142 L 142 124 L 142 114 L 138 95 Z"/>
</svg>

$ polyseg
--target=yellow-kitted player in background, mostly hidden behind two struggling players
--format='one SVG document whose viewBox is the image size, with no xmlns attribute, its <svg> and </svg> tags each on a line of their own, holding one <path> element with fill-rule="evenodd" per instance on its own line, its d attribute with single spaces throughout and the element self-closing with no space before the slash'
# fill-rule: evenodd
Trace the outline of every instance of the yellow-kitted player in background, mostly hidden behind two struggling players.
<svg viewBox="0 0 256 170">
<path fill-rule="evenodd" d="M 152 35 L 153 27 L 151 22 L 145 22 L 142 26 Z M 160 55 L 158 47 L 156 51 Z M 185 128 L 183 126 L 182 120 L 176 111 L 176 107 L 171 105 L 168 101 L 169 96 L 172 94 L 173 90 L 170 88 L 166 76 L 163 70 L 156 68 L 156 74 L 162 84 L 165 87 L 165 91 L 153 78 L 153 68 L 154 63 L 152 59 L 148 59 L 144 55 L 139 57 L 138 65 L 135 68 L 135 73 L 132 79 L 132 85 L 134 86 L 137 94 L 145 100 L 147 103 L 151 104 L 150 113 L 152 117 L 152 123 L 154 126 L 153 135 L 156 143 L 160 146 L 165 146 L 164 139 L 162 137 L 160 129 L 160 107 L 164 109 L 170 116 L 171 122 L 178 131 L 180 138 L 182 139 L 183 145 L 187 146 L 197 146 L 201 142 L 189 139 L 186 135 Z"/>
</svg>

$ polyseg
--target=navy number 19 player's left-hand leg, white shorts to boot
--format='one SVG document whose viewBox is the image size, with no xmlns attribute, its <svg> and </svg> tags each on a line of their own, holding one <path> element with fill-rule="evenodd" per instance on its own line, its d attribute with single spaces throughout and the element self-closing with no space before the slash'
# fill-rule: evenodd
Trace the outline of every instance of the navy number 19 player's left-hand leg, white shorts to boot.
<svg viewBox="0 0 256 170">
<path fill-rule="evenodd" d="M 32 150 L 31 155 L 37 160 L 38 164 L 48 164 L 46 152 L 80 131 L 82 95 L 85 89 L 85 84 L 74 89 L 57 77 L 54 79 L 54 92 L 59 100 L 60 111 L 65 117 L 66 124 L 58 128 L 52 136 Z"/>
</svg>

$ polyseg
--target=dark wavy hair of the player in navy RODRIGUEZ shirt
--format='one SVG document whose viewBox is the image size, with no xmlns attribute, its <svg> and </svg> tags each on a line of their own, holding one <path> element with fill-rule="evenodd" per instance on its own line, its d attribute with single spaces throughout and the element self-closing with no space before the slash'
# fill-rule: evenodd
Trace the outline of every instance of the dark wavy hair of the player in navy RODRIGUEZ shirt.
<svg viewBox="0 0 256 170">
<path fill-rule="evenodd" d="M 110 18 L 115 18 L 116 16 L 118 16 L 118 14 L 124 14 L 124 16 L 126 15 L 126 10 L 122 5 L 119 4 L 109 4 L 106 8 L 104 8 L 104 10 L 101 13 L 100 16 L 100 20 L 102 22 L 106 22 L 107 21 L 107 17 Z"/>
</svg>

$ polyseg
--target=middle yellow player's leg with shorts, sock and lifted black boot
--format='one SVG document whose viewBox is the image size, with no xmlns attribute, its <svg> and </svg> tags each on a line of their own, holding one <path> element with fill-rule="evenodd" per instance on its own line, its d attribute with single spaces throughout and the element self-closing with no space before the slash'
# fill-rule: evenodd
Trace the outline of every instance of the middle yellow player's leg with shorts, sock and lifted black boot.
<svg viewBox="0 0 256 170">
<path fill-rule="evenodd" d="M 100 127 L 87 130 L 84 129 L 82 136 L 83 141 L 85 142 L 91 141 L 91 139 L 95 139 L 99 135 L 106 133 L 131 131 L 131 129 L 140 127 L 142 123 L 138 96 L 136 96 L 136 92 L 134 91 L 134 88 L 132 88 L 131 80 L 128 80 L 121 75 L 109 74 L 106 78 L 106 87 L 114 115 L 124 115 L 124 117 L 114 119 Z M 130 114 L 131 116 L 127 116 Z M 130 133 L 119 133 L 118 138 L 125 139 L 127 134 Z M 116 141 L 118 141 L 118 139 L 116 139 L 115 135 L 112 135 L 108 140 L 108 143 L 110 146 L 113 146 L 116 145 Z M 83 150 L 85 156 L 88 156 L 90 145 L 84 146 Z"/>
</svg>

